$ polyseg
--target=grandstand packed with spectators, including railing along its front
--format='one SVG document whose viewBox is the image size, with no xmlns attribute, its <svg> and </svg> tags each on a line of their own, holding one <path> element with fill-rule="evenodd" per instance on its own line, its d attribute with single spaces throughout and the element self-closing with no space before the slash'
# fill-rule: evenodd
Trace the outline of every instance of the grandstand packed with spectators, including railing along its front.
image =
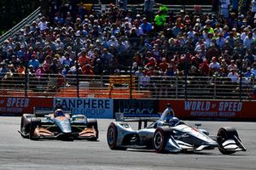
<svg viewBox="0 0 256 170">
<path fill-rule="evenodd" d="M 143 1 L 131 1 L 127 10 L 114 1 L 94 2 L 78 3 L 75 11 L 63 3 L 48 16 L 37 8 L 7 31 L 0 38 L 0 95 L 251 99 L 252 11 L 230 10 L 224 18 L 208 2 L 165 3 L 164 25 L 152 20 L 146 22 L 150 31 L 140 33 L 148 19 Z M 154 6 L 154 17 L 161 5 Z"/>
</svg>

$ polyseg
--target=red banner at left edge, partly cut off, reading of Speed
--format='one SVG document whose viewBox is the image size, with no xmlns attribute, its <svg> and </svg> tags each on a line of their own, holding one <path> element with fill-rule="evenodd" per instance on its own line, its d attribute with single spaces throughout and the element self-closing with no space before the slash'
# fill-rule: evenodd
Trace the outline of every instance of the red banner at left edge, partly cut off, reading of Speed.
<svg viewBox="0 0 256 170">
<path fill-rule="evenodd" d="M 34 107 L 52 107 L 53 99 L 1 97 L 0 116 L 21 116 L 23 113 L 32 113 Z"/>
</svg>

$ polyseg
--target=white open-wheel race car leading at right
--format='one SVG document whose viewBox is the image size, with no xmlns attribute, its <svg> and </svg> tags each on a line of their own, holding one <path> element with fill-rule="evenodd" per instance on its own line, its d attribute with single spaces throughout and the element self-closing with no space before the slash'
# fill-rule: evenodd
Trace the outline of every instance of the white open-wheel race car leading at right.
<svg viewBox="0 0 256 170">
<path fill-rule="evenodd" d="M 133 130 L 126 121 L 139 122 L 139 129 Z M 152 122 L 152 118 L 138 117 L 111 122 L 107 133 L 109 148 L 154 149 L 163 153 L 213 150 L 218 147 L 225 155 L 246 151 L 233 127 L 221 127 L 217 136 L 211 136 L 207 130 L 199 128 L 201 124 L 191 127 L 177 119 L 171 108 L 167 108 L 162 116 L 148 127 L 141 128 L 142 122 L 149 121 Z"/>
</svg>

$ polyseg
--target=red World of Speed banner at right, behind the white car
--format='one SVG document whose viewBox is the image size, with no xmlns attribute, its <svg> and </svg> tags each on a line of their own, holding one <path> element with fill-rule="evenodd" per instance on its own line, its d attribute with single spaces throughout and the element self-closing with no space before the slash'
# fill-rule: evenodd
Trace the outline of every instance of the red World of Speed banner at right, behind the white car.
<svg viewBox="0 0 256 170">
<path fill-rule="evenodd" d="M 160 111 L 170 103 L 175 115 L 188 119 L 256 120 L 255 102 L 237 100 L 160 100 Z"/>
</svg>

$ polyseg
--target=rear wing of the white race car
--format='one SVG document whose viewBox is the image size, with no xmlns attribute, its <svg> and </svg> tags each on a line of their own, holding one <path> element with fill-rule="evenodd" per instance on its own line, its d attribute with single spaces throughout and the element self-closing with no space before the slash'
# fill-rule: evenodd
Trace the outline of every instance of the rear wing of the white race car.
<svg viewBox="0 0 256 170">
<path fill-rule="evenodd" d="M 144 123 L 144 128 L 148 126 L 148 122 L 156 122 L 160 118 L 159 114 L 143 115 L 143 114 L 125 114 L 117 112 L 115 113 L 115 121 L 117 122 L 138 122 L 138 129 L 141 129 Z"/>
</svg>

